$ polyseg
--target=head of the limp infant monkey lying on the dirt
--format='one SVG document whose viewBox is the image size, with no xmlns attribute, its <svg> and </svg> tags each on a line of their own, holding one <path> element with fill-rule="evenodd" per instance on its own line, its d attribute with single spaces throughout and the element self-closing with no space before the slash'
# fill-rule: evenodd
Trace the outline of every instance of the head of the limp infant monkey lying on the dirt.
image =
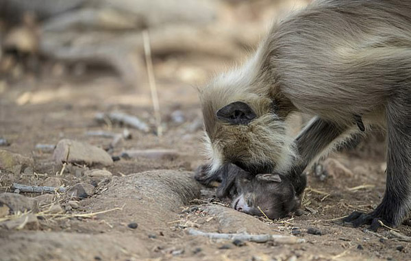
<svg viewBox="0 0 411 261">
<path fill-rule="evenodd" d="M 232 207 L 247 214 L 280 219 L 300 205 L 291 182 L 277 174 L 259 174 L 253 179 L 242 176 L 236 188 L 238 196 Z"/>
</svg>

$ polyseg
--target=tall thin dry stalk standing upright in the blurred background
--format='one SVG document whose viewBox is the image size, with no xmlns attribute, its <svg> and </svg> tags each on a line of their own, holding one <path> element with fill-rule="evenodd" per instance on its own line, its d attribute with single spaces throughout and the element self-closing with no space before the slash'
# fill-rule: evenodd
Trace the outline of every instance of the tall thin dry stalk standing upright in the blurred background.
<svg viewBox="0 0 411 261">
<path fill-rule="evenodd" d="M 144 52 L 145 52 L 145 60 L 146 60 L 146 66 L 147 66 L 147 74 L 149 76 L 151 99 L 153 99 L 155 124 L 157 125 L 157 135 L 161 137 L 162 127 L 161 127 L 161 116 L 160 116 L 160 103 L 158 102 L 157 86 L 155 86 L 153 61 L 151 60 L 150 38 L 149 38 L 149 32 L 147 30 L 142 32 L 142 40 L 144 42 Z"/>
</svg>

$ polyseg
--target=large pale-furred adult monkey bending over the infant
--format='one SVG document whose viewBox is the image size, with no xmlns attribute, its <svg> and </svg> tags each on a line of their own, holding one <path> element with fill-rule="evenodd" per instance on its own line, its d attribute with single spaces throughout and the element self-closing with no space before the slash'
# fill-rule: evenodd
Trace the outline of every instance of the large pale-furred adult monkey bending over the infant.
<svg viewBox="0 0 411 261">
<path fill-rule="evenodd" d="M 274 25 L 243 66 L 199 92 L 208 175 L 231 162 L 295 184 L 319 156 L 379 125 L 388 147 L 384 198 L 346 221 L 375 230 L 410 213 L 411 1 L 313 1 Z M 292 140 L 284 120 L 295 111 L 316 117 Z"/>
</svg>

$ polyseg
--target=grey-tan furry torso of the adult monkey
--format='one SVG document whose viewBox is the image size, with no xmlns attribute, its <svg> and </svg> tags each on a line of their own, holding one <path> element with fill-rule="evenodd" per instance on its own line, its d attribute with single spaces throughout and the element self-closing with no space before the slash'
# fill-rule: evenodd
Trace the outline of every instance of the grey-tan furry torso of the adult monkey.
<svg viewBox="0 0 411 261">
<path fill-rule="evenodd" d="M 411 1 L 318 1 L 274 27 L 265 49 L 299 110 L 334 120 L 371 113 L 411 95 Z"/>
</svg>

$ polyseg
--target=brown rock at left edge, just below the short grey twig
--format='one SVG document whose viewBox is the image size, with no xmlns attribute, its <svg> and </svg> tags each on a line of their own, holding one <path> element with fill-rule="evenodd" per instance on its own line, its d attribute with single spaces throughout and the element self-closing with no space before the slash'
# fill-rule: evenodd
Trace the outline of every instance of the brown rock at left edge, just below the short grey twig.
<svg viewBox="0 0 411 261">
<path fill-rule="evenodd" d="M 10 214 L 14 214 L 18 211 L 26 212 L 32 210 L 32 212 L 38 212 L 38 202 L 31 197 L 25 197 L 16 193 L 5 192 L 0 195 L 0 203 L 3 203 L 10 208 Z"/>
</svg>

